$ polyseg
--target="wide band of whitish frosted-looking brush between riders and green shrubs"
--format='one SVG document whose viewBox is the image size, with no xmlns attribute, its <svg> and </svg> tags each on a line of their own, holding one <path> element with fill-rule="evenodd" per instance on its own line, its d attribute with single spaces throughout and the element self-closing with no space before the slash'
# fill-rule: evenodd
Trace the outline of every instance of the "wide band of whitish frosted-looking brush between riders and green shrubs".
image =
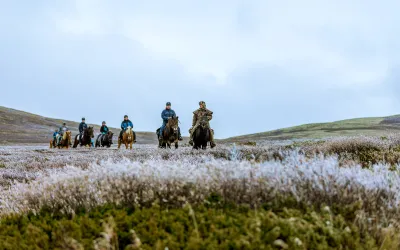
<svg viewBox="0 0 400 250">
<path fill-rule="evenodd" d="M 283 161 L 242 160 L 249 150 L 257 154 L 268 148 L 2 148 L 0 215 L 37 213 L 43 208 L 73 214 L 107 203 L 141 207 L 157 202 L 180 207 L 207 202 L 211 194 L 217 194 L 226 202 L 251 207 L 284 197 L 314 206 L 361 202 L 369 217 L 397 223 L 400 178 L 388 165 L 339 166 L 336 156 L 306 158 L 297 151 L 284 153 Z"/>
</svg>

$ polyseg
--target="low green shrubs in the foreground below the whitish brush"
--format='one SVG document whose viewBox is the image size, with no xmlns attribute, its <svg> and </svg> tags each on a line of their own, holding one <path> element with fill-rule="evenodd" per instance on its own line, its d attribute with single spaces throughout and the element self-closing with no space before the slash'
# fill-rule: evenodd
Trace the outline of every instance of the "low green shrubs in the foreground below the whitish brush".
<svg viewBox="0 0 400 250">
<path fill-rule="evenodd" d="M 357 205 L 337 214 L 293 200 L 255 210 L 209 201 L 194 209 L 103 206 L 72 217 L 45 210 L 8 216 L 0 223 L 0 249 L 397 249 L 399 243 L 390 230 L 378 237 L 360 230 Z"/>
</svg>

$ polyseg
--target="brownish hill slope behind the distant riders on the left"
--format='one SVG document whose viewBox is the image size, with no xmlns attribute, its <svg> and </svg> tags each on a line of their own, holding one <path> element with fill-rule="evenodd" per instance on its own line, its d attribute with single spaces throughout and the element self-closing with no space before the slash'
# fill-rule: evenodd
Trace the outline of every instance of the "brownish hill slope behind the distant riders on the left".
<svg viewBox="0 0 400 250">
<path fill-rule="evenodd" d="M 54 130 L 63 122 L 67 123 L 73 136 L 78 134 L 78 122 L 47 118 L 0 106 L 0 144 L 47 143 L 52 138 Z M 94 125 L 94 128 L 96 132 L 100 130 L 98 125 Z M 116 134 L 114 136 L 116 143 L 120 130 L 116 128 L 110 130 Z M 137 132 L 137 137 L 138 144 L 157 143 L 154 132 Z"/>
</svg>

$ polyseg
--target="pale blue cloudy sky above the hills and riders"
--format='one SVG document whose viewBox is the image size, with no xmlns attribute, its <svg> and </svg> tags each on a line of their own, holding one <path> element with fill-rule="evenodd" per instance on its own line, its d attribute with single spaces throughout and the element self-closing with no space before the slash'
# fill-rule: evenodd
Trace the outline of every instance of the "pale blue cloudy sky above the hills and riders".
<svg viewBox="0 0 400 250">
<path fill-rule="evenodd" d="M 395 0 L 0 0 L 0 106 L 217 138 L 400 113 Z"/>
</svg>

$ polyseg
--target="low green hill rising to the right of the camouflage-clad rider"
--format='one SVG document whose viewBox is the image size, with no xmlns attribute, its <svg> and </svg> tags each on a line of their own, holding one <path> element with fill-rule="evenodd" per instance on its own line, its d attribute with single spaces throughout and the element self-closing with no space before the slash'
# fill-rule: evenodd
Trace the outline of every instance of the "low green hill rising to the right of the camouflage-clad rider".
<svg viewBox="0 0 400 250">
<path fill-rule="evenodd" d="M 384 136 L 393 132 L 400 132 L 400 115 L 305 124 L 263 133 L 231 137 L 223 141 L 249 142 L 263 140 L 320 139 L 334 136 L 355 135 Z"/>
</svg>

